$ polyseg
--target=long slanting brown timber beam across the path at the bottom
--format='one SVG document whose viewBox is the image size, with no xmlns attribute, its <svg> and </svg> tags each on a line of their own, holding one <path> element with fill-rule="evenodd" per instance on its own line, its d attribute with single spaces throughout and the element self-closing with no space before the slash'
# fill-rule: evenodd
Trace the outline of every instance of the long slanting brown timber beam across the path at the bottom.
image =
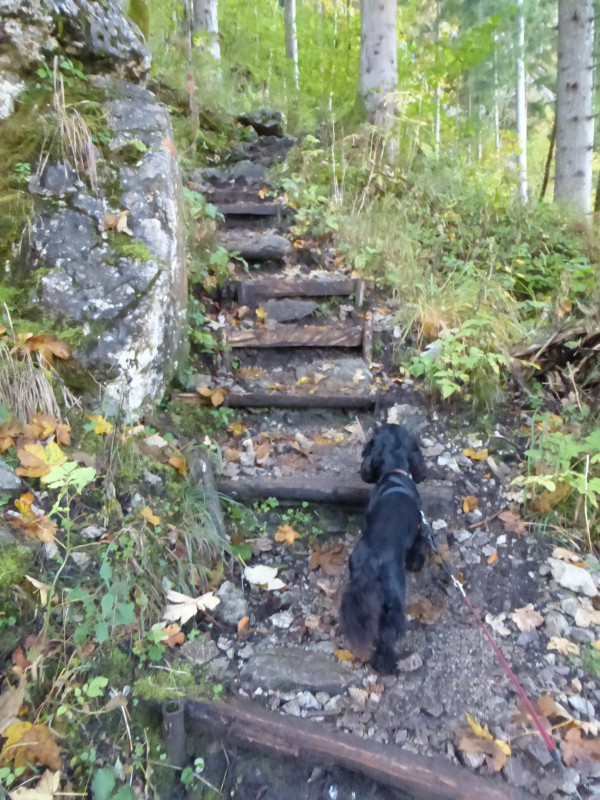
<svg viewBox="0 0 600 800">
<path fill-rule="evenodd" d="M 395 745 L 360 739 L 309 720 L 283 716 L 249 701 L 185 701 L 188 730 L 237 745 L 337 766 L 401 789 L 414 800 L 532 800 L 496 778 L 482 778 L 443 758 L 426 758 Z"/>
</svg>

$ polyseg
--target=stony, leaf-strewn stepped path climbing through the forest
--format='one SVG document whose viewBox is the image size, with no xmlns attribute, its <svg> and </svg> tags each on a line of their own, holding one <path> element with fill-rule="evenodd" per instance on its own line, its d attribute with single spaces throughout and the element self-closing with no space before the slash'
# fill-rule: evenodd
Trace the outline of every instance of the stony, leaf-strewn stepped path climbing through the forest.
<svg viewBox="0 0 600 800">
<path fill-rule="evenodd" d="M 288 232 L 292 212 L 266 173 L 288 146 L 285 138 L 259 137 L 224 167 L 188 176 L 223 212 L 221 241 L 249 265 L 235 276 L 237 293 L 214 302 L 229 363 L 216 375 L 196 375 L 190 388 L 215 405 L 222 393 L 240 408 L 239 422 L 218 436 L 220 489 L 246 501 L 226 506 L 244 559 L 274 567 L 284 586 L 265 591 L 236 563 L 217 592 L 214 618 L 181 657 L 233 694 L 326 729 L 441 756 L 532 795 L 598 799 L 600 762 L 586 748 L 596 746 L 600 687 L 577 656 L 600 638 L 599 614 L 586 596 L 597 592 L 600 572 L 592 557 L 556 551 L 519 513 L 511 479 L 531 419 L 518 404 L 496 419 L 434 409 L 394 367 L 394 302 L 357 283 L 327 245 Z M 191 392 L 187 399 L 194 402 Z M 379 676 L 345 650 L 337 620 L 366 491 L 358 467 L 370 430 L 386 420 L 418 433 L 428 467 L 424 508 L 438 546 L 555 729 L 563 764 L 534 732 L 433 553 L 422 572 L 409 574 L 410 624 L 397 674 Z M 315 503 L 316 495 L 328 502 Z M 569 588 L 566 564 L 585 572 L 585 586 Z M 404 796 L 340 771 L 277 768 L 250 753 L 227 766 L 219 746 L 204 746 L 204 774 L 216 785 L 225 780 L 231 797 Z"/>
</svg>

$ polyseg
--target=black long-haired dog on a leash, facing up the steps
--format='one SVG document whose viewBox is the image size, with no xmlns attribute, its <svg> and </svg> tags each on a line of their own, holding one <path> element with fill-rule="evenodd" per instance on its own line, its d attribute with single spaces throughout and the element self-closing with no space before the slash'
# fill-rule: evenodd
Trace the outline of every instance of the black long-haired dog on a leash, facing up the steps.
<svg viewBox="0 0 600 800">
<path fill-rule="evenodd" d="M 415 486 L 425 479 L 417 440 L 401 425 L 377 428 L 363 451 L 360 475 L 377 483 L 350 557 L 340 621 L 350 649 L 364 660 L 371 657 L 378 672 L 392 673 L 394 645 L 406 631 L 404 569 L 420 570 L 427 546 Z"/>
</svg>

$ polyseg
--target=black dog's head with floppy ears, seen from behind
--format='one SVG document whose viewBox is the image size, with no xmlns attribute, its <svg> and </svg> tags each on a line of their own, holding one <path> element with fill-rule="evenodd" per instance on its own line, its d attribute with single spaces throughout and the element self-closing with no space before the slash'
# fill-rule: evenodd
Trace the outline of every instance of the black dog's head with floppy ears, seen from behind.
<svg viewBox="0 0 600 800">
<path fill-rule="evenodd" d="M 373 431 L 363 450 L 360 477 L 375 483 L 393 469 L 410 472 L 415 483 L 425 480 L 425 459 L 416 437 L 402 425 L 386 423 Z"/>
</svg>

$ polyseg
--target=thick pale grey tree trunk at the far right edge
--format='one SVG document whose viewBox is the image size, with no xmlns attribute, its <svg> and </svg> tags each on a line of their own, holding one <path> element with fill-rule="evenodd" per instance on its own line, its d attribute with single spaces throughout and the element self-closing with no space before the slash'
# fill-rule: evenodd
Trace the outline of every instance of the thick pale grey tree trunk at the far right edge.
<svg viewBox="0 0 600 800">
<path fill-rule="evenodd" d="M 588 214 L 592 202 L 593 0 L 559 0 L 554 201 Z"/>
</svg>

